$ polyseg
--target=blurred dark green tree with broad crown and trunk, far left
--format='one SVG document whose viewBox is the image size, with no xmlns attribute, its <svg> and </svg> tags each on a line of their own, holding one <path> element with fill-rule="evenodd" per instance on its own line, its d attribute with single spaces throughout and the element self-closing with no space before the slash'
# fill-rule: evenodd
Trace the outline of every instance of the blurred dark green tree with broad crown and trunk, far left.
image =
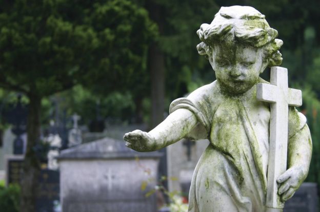
<svg viewBox="0 0 320 212">
<path fill-rule="evenodd" d="M 80 82 L 96 92 L 134 90 L 129 79 L 145 70 L 142 55 L 156 30 L 144 9 L 125 0 L 0 5 L 0 87 L 29 99 L 20 211 L 33 212 L 42 99 Z"/>
</svg>

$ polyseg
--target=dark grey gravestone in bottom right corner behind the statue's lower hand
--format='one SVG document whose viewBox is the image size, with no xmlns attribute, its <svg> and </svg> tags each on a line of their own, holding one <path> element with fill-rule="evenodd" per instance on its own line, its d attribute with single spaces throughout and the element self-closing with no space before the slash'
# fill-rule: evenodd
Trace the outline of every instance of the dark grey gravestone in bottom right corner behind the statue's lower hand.
<svg viewBox="0 0 320 212">
<path fill-rule="evenodd" d="M 306 182 L 299 187 L 294 196 L 289 199 L 284 212 L 317 212 L 318 193 L 316 183 Z"/>
</svg>

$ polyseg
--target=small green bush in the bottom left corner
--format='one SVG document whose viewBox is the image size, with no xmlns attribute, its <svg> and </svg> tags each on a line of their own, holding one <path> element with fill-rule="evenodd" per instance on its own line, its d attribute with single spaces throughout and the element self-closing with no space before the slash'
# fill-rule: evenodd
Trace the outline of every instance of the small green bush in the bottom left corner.
<svg viewBox="0 0 320 212">
<path fill-rule="evenodd" d="M 18 212 L 20 199 L 20 187 L 10 184 L 5 187 L 4 181 L 0 181 L 0 210 L 6 212 Z"/>
</svg>

